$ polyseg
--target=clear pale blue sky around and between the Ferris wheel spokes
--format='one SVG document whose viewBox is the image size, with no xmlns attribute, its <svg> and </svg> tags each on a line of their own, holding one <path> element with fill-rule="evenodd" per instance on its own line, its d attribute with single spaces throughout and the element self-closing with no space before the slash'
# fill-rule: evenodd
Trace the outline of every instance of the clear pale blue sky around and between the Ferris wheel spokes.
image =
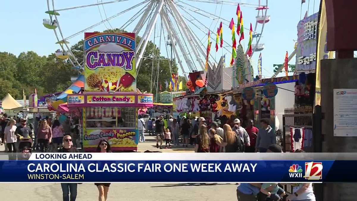
<svg viewBox="0 0 357 201">
<path fill-rule="evenodd" d="M 110 0 L 103 0 L 103 2 Z M 217 16 L 221 16 L 221 18 L 230 20 L 234 19 L 235 23 L 237 22 L 236 6 L 233 5 L 222 5 L 221 4 L 209 4 L 209 3 L 199 3 L 190 0 L 181 0 L 187 4 L 205 10 L 209 13 L 215 14 Z M 234 1 L 234 0 L 230 0 Z M 308 5 L 309 0 L 302 6 L 302 17 L 305 12 L 308 10 L 309 15 L 316 13 L 319 9 L 320 1 L 315 1 L 315 6 L 313 5 L 315 0 L 310 1 L 310 5 Z M 119 3 L 107 4 L 104 5 L 104 9 L 106 11 L 106 15 L 112 16 L 119 13 L 122 10 L 130 8 L 133 5 L 140 3 L 139 0 L 130 0 Z M 257 4 L 258 0 L 241 0 L 235 1 L 241 3 L 251 3 Z M 265 0 L 262 0 L 265 4 Z M 51 3 L 51 0 L 50 0 Z M 55 0 L 55 9 L 69 8 L 72 6 L 80 6 L 80 5 L 88 5 L 97 3 L 97 0 Z M 180 3 L 181 5 L 184 5 Z M 50 5 L 50 9 L 52 10 L 52 5 Z M 187 5 L 185 5 L 188 7 Z M 297 38 L 297 24 L 300 20 L 300 7 L 301 0 L 269 0 L 268 7 L 268 15 L 271 16 L 271 20 L 265 24 L 263 30 L 263 37 L 260 40 L 260 43 L 265 43 L 265 49 L 261 51 L 262 53 L 262 67 L 263 67 L 263 77 L 271 77 L 273 74 L 273 64 L 281 64 L 284 61 L 285 52 L 288 51 L 290 54 L 293 52 L 293 46 Z M 309 9 L 308 9 L 309 7 Z M 315 7 L 315 10 L 314 10 Z M 110 20 L 110 25 L 114 28 L 119 28 L 122 26 L 128 19 L 131 18 L 135 13 L 137 13 L 142 6 L 138 8 L 132 9 L 131 11 L 120 15 L 112 20 Z M 103 8 L 100 6 L 101 14 L 104 17 Z M 47 10 L 46 0 L 34 0 L 34 1 L 2 1 L 0 7 L 0 24 L 2 27 L 2 31 L 0 32 L 1 46 L 0 52 L 10 52 L 15 55 L 19 55 L 21 52 L 34 51 L 39 55 L 48 55 L 52 52 L 55 52 L 56 49 L 59 49 L 59 45 L 55 44 L 56 38 L 54 32 L 50 29 L 46 29 L 42 25 L 42 19 L 49 18 L 47 14 L 44 12 Z M 179 9 L 181 14 L 188 16 L 183 10 Z M 243 13 L 243 21 L 244 26 L 249 28 L 250 23 L 252 23 L 253 28 L 255 25 L 255 16 L 257 15 L 257 11 L 254 8 L 249 8 L 245 6 L 241 6 L 241 10 Z M 79 8 L 73 10 L 65 10 L 59 11 L 60 16 L 59 23 L 61 26 L 62 33 L 65 37 L 72 35 L 80 30 L 83 30 L 90 25 L 93 25 L 97 22 L 102 21 L 100 17 L 99 8 L 97 6 L 91 6 L 86 8 Z M 197 20 L 199 20 L 202 24 L 207 27 L 210 27 L 211 31 L 214 33 L 217 30 L 219 25 L 219 21 L 208 19 L 199 15 L 197 13 L 193 13 L 192 11 L 188 11 L 192 14 Z M 132 31 L 136 25 L 135 20 L 129 26 L 127 26 L 127 31 Z M 192 30 L 197 34 L 199 39 L 202 39 L 203 44 L 207 44 L 207 37 L 205 33 L 198 30 L 194 25 L 187 22 L 189 26 L 192 27 Z M 197 22 L 195 24 L 201 26 Z M 217 24 L 217 25 L 216 25 Z M 110 25 L 108 23 L 105 24 L 108 28 Z M 106 29 L 106 26 L 101 24 L 96 26 L 89 31 L 102 31 Z M 260 32 L 261 25 L 258 25 L 257 32 Z M 208 30 L 205 30 L 208 32 Z M 144 29 L 141 30 L 139 35 L 144 33 Z M 159 40 L 158 33 L 156 38 L 156 44 L 159 44 L 157 41 Z M 154 31 L 151 35 L 151 40 L 154 38 Z M 223 35 L 224 40 L 231 44 L 231 34 L 228 26 L 223 26 Z M 245 30 L 245 41 L 242 43 L 243 48 L 246 49 L 248 43 L 248 30 Z M 70 45 L 75 44 L 77 41 L 83 39 L 84 34 L 79 34 L 74 38 L 69 39 Z M 216 57 L 216 60 L 219 60 L 219 56 L 222 54 L 222 50 L 218 50 L 218 53 L 215 53 L 215 35 L 212 35 L 212 48 L 211 53 L 213 57 Z M 238 37 L 238 36 L 236 36 Z M 161 54 L 166 56 L 165 42 L 164 38 L 161 40 Z M 205 49 L 205 47 L 203 47 Z M 224 50 L 223 53 L 226 53 Z M 254 64 L 257 64 L 259 52 L 256 52 L 253 55 L 253 68 L 256 71 L 257 67 Z M 228 64 L 228 60 L 230 55 L 226 55 L 226 63 Z M 183 58 L 181 57 L 183 60 Z M 290 64 L 295 63 L 295 58 L 290 61 Z M 187 67 L 186 67 L 187 69 Z M 284 73 L 281 73 L 279 76 L 283 76 Z"/>
</svg>

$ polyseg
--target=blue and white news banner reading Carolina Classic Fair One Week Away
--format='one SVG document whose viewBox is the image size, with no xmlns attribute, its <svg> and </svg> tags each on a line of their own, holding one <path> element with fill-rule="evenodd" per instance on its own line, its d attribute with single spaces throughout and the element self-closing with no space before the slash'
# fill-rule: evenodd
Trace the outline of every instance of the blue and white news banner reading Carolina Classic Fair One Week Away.
<svg viewBox="0 0 357 201">
<path fill-rule="evenodd" d="M 356 156 L 356 153 L 32 153 L 28 160 L 1 160 L 0 182 L 356 182 Z"/>
</svg>

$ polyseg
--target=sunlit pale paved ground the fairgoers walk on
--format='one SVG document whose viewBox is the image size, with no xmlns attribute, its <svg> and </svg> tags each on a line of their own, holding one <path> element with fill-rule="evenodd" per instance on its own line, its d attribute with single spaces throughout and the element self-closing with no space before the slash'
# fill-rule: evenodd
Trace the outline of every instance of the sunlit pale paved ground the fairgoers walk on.
<svg viewBox="0 0 357 201">
<path fill-rule="evenodd" d="M 139 143 L 138 151 L 194 152 L 193 146 L 172 146 L 170 149 L 156 148 L 156 137 L 146 134 L 146 142 Z M 165 147 L 165 144 L 164 146 Z M 4 146 L 0 146 L 4 151 Z M 7 160 L 1 156 L 0 160 Z M 0 175 L 1 176 L 1 175 Z M 19 191 L 20 190 L 20 191 Z M 14 193 L 21 192 L 21 193 Z M 38 200 L 61 201 L 60 183 L 0 183 L 1 201 Z M 77 201 L 98 200 L 98 191 L 93 183 L 78 185 Z M 108 201 L 185 201 L 185 200 L 236 200 L 235 184 L 193 184 L 188 183 L 112 183 Z"/>
</svg>

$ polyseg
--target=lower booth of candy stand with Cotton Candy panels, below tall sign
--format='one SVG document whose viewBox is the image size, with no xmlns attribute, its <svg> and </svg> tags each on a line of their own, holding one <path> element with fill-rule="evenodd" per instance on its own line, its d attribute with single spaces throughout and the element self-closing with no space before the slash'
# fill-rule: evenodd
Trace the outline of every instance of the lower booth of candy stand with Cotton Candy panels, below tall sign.
<svg viewBox="0 0 357 201">
<path fill-rule="evenodd" d="M 136 151 L 138 109 L 152 107 L 152 94 L 136 92 L 84 92 L 69 94 L 67 106 L 81 108 L 83 148 L 93 152 L 101 139 L 106 139 L 112 151 Z"/>
</svg>

